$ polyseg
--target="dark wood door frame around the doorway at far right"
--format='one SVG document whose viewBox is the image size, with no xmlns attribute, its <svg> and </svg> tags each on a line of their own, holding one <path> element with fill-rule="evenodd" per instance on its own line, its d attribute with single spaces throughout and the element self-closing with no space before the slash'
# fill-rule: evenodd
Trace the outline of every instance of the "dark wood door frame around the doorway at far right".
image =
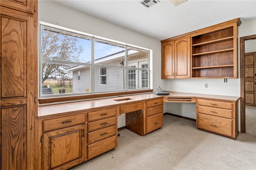
<svg viewBox="0 0 256 170">
<path fill-rule="evenodd" d="M 255 35 L 249 35 L 246 37 L 240 37 L 240 93 L 241 93 L 241 106 L 240 106 L 240 125 L 241 125 L 241 133 L 245 133 L 245 52 L 244 52 L 244 41 L 256 39 Z"/>
</svg>

